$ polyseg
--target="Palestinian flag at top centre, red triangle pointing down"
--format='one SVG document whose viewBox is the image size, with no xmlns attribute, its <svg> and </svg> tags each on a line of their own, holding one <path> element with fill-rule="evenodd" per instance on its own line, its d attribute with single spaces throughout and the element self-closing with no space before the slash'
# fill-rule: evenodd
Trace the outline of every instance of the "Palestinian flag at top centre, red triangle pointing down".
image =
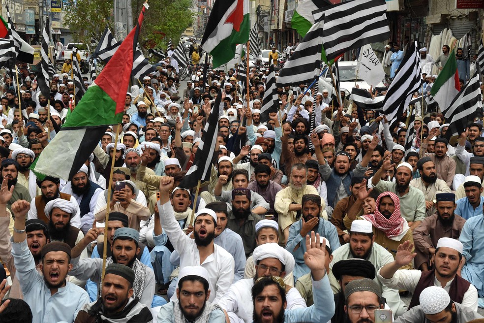
<svg viewBox="0 0 484 323">
<path fill-rule="evenodd" d="M 216 0 L 200 46 L 212 55 L 213 67 L 234 58 L 237 44 L 249 39 L 249 0 Z"/>
</svg>

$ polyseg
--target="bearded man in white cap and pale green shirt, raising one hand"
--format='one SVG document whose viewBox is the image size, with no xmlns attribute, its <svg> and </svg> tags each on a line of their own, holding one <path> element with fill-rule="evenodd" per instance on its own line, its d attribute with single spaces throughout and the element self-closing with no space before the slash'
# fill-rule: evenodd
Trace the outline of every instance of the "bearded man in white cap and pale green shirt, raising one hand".
<svg viewBox="0 0 484 323">
<path fill-rule="evenodd" d="M 425 195 L 419 189 L 410 186 L 413 178 L 413 167 L 408 162 L 397 165 L 395 171 L 395 182 L 382 181 L 381 178 L 387 170 L 395 167 L 387 156 L 383 165 L 378 169 L 371 180 L 373 187 L 380 193 L 392 192 L 400 201 L 401 216 L 404 218 L 411 230 L 414 230 L 425 219 Z"/>
</svg>

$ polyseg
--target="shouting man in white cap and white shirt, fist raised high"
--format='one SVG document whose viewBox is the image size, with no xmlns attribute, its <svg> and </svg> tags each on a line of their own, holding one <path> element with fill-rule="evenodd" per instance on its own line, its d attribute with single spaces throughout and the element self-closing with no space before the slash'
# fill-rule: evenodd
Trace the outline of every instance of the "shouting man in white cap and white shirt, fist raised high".
<svg viewBox="0 0 484 323">
<path fill-rule="evenodd" d="M 234 280 L 234 258 L 223 248 L 213 243 L 217 215 L 210 209 L 199 209 L 194 220 L 195 239 L 189 238 L 175 220 L 173 206 L 170 203 L 170 191 L 173 177 L 163 176 L 160 179 L 160 199 L 158 209 L 161 226 L 170 239 L 173 248 L 180 255 L 180 268 L 185 266 L 202 266 L 209 272 L 209 285 L 212 302 L 218 301 L 228 290 Z M 172 300 L 175 300 L 175 295 Z"/>
</svg>

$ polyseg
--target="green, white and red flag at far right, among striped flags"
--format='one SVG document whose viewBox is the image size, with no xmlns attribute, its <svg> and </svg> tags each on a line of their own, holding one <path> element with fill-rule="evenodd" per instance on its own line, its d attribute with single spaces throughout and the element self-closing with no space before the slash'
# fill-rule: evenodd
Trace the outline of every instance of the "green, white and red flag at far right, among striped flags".
<svg viewBox="0 0 484 323">
<path fill-rule="evenodd" d="M 451 102 L 460 92 L 459 73 L 457 72 L 457 61 L 452 50 L 449 59 L 435 79 L 430 94 L 439 103 L 443 114 L 447 111 Z"/>
</svg>

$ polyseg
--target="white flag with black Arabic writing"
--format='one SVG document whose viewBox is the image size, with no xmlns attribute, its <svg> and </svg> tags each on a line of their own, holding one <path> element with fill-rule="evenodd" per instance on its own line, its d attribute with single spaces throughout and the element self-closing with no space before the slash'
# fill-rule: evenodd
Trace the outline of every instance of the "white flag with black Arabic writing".
<svg viewBox="0 0 484 323">
<path fill-rule="evenodd" d="M 358 78 L 363 79 L 369 85 L 376 86 L 385 78 L 385 71 L 380 60 L 369 44 L 361 48 L 356 70 Z"/>
</svg>

